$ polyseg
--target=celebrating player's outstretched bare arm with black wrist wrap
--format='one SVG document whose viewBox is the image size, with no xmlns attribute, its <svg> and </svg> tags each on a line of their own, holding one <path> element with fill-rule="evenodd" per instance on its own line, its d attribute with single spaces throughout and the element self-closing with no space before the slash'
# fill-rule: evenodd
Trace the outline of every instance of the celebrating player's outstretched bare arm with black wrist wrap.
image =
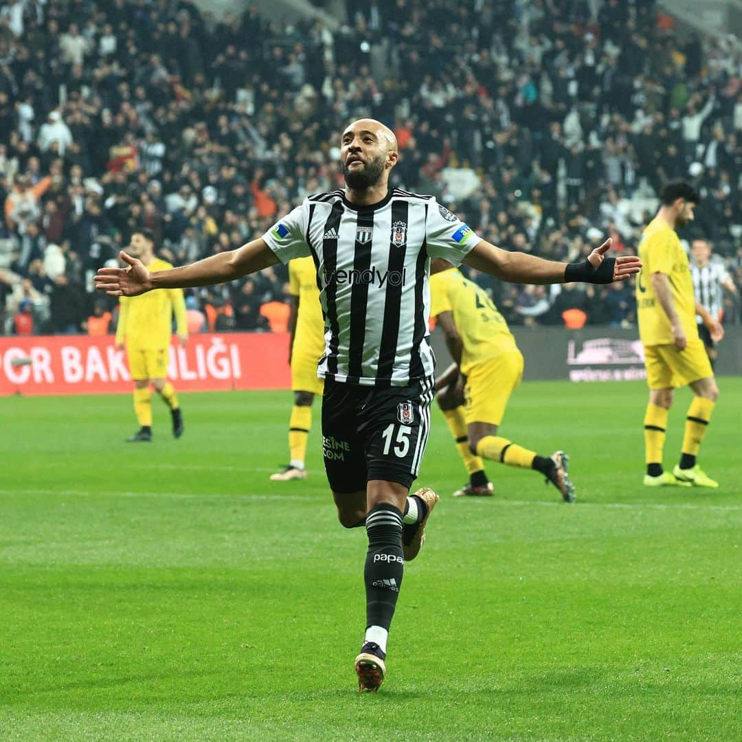
<svg viewBox="0 0 742 742">
<path fill-rule="evenodd" d="M 608 239 L 582 263 L 557 263 L 526 252 L 508 252 L 480 240 L 464 263 L 510 283 L 613 283 L 639 272 L 641 263 L 634 255 L 605 257 L 610 247 Z"/>
</svg>

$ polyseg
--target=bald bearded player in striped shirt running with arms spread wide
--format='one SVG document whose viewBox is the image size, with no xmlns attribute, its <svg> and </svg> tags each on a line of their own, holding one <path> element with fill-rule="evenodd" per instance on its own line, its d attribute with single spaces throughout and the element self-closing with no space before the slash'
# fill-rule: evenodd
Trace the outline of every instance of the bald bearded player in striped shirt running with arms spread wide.
<svg viewBox="0 0 742 742">
<path fill-rule="evenodd" d="M 367 691 L 384 680 L 404 562 L 417 556 L 438 500 L 427 489 L 408 496 L 433 400 L 430 258 L 466 260 L 522 283 L 609 283 L 640 266 L 637 257 L 605 257 L 609 242 L 570 265 L 501 250 L 434 197 L 390 188 L 398 158 L 393 132 L 373 119 L 359 119 L 341 137 L 344 189 L 306 197 L 263 237 L 232 252 L 154 273 L 122 252 L 127 269 L 103 268 L 96 276 L 98 288 L 109 295 L 133 296 L 220 283 L 279 260 L 312 257 L 326 329 L 318 373 L 324 377 L 327 479 L 341 524 L 364 526 L 368 536 L 366 634 L 355 658 L 358 687 Z"/>
</svg>

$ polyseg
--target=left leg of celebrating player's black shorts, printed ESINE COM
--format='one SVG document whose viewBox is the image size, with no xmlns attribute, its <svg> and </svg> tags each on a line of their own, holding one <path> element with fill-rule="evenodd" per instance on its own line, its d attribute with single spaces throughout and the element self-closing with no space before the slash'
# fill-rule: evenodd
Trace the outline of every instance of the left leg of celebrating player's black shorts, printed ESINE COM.
<svg viewBox="0 0 742 742">
<path fill-rule="evenodd" d="M 359 388 L 327 381 L 322 395 L 322 456 L 335 496 L 366 490 L 364 444 L 358 434 Z"/>
</svg>

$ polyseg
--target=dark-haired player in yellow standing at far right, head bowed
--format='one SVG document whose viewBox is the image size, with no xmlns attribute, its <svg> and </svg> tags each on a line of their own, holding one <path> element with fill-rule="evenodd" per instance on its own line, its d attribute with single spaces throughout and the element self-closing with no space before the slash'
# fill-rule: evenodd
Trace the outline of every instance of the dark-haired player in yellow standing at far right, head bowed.
<svg viewBox="0 0 742 742">
<path fill-rule="evenodd" d="M 696 315 L 715 341 L 723 337 L 718 320 L 695 301 L 688 256 L 675 230 L 693 219 L 699 194 L 688 183 L 668 183 L 660 194 L 660 211 L 639 243 L 643 268 L 637 277 L 639 336 L 649 384 L 644 416 L 648 487 L 696 485 L 718 487 L 696 463 L 696 456 L 719 395 L 714 372 L 698 336 Z M 667 416 L 673 390 L 691 387 L 695 395 L 686 417 L 680 463 L 672 474 L 663 470 Z"/>
</svg>

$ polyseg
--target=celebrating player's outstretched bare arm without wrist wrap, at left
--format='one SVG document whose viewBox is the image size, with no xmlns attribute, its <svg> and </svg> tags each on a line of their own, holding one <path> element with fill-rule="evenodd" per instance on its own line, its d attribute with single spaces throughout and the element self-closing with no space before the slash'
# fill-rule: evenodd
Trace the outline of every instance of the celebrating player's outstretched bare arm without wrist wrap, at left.
<svg viewBox="0 0 742 742">
<path fill-rule="evenodd" d="M 137 296 L 153 289 L 190 289 L 241 278 L 278 263 L 265 241 L 252 240 L 236 250 L 211 255 L 197 263 L 168 271 L 150 273 L 141 260 L 120 252 L 128 268 L 101 268 L 95 277 L 96 289 L 109 296 Z"/>
</svg>

